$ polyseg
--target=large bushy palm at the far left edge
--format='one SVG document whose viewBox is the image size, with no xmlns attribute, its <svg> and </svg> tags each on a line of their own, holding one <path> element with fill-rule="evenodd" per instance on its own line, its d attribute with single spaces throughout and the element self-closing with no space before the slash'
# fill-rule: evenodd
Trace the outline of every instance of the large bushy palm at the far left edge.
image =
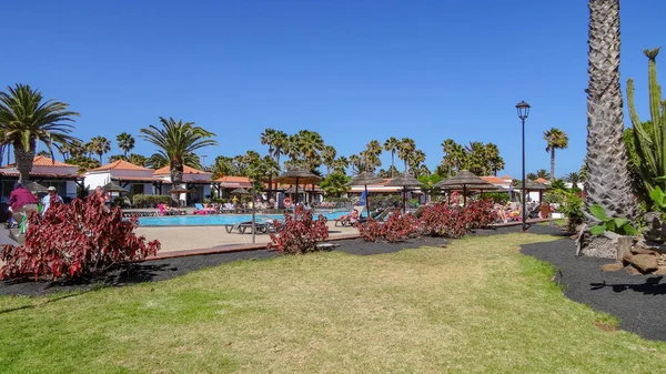
<svg viewBox="0 0 666 374">
<path fill-rule="evenodd" d="M 53 143 L 64 144 L 71 137 L 72 117 L 79 113 L 68 110 L 60 101 L 43 100 L 42 93 L 30 85 L 17 84 L 0 92 L 0 130 L 4 142 L 13 145 L 19 180 L 28 182 L 32 171 L 32 160 L 37 142 L 42 142 L 52 154 Z"/>
</svg>

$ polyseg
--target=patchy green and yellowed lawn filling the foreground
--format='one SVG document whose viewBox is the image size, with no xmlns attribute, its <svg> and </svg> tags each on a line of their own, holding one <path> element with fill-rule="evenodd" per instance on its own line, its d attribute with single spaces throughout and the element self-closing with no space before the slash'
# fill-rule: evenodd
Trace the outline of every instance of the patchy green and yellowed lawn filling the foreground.
<svg viewBox="0 0 666 374">
<path fill-rule="evenodd" d="M 317 253 L 0 297 L 0 373 L 666 372 L 665 343 L 615 331 L 616 319 L 564 297 L 549 265 L 518 254 L 543 240 L 555 239 Z"/>
</svg>

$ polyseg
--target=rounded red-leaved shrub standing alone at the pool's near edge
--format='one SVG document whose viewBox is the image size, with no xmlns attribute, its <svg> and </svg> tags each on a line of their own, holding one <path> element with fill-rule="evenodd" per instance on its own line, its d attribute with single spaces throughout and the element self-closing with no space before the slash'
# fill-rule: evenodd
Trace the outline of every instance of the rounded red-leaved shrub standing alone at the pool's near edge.
<svg viewBox="0 0 666 374">
<path fill-rule="evenodd" d="M 326 218 L 320 215 L 316 220 L 312 212 L 296 205 L 294 215 L 284 213 L 284 222 L 275 221 L 275 233 L 271 234 L 269 249 L 281 254 L 307 253 L 317 250 L 316 244 L 329 237 Z"/>
</svg>

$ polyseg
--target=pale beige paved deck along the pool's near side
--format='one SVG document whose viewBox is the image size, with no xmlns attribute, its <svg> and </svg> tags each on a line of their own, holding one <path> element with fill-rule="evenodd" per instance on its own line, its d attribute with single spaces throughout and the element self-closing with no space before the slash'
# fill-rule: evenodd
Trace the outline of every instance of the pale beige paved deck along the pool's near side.
<svg viewBox="0 0 666 374">
<path fill-rule="evenodd" d="M 329 221 L 326 225 L 329 226 L 329 237 L 331 240 L 359 236 L 356 228 L 335 226 L 334 221 Z M 228 233 L 223 225 L 140 226 L 135 233 L 145 236 L 149 241 L 159 240 L 162 249 L 158 257 L 161 259 L 191 254 L 246 251 L 265 247 L 271 240 L 268 234 L 256 234 L 256 243 L 253 245 L 251 233 Z"/>
</svg>

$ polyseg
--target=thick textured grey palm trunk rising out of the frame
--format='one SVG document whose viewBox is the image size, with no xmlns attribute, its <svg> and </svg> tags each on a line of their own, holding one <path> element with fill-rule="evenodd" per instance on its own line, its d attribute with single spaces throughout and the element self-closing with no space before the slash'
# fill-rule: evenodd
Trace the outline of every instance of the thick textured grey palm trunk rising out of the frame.
<svg viewBox="0 0 666 374">
<path fill-rule="evenodd" d="M 587 178 L 585 203 L 608 216 L 634 219 L 628 160 L 623 142 L 619 90 L 619 0 L 588 0 Z"/>
</svg>

